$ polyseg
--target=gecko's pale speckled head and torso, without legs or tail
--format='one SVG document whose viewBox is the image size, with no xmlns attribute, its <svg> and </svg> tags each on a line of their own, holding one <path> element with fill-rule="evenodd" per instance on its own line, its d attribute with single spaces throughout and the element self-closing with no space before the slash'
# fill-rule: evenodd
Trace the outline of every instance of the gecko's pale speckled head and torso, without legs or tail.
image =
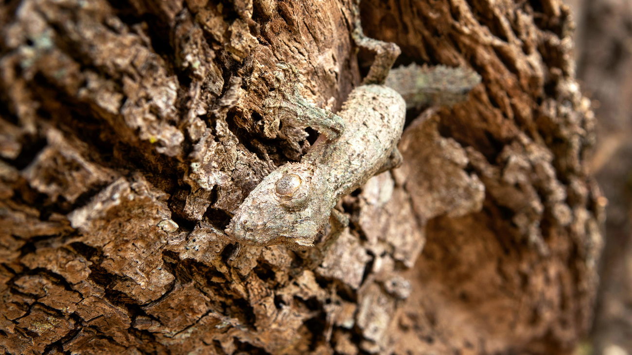
<svg viewBox="0 0 632 355">
<path fill-rule="evenodd" d="M 339 116 L 342 135 L 335 140 L 321 135 L 299 164 L 266 176 L 237 210 L 226 229 L 229 237 L 253 246 L 313 246 L 341 197 L 399 164 L 397 143 L 406 116 L 399 93 L 383 85 L 360 86 Z"/>
</svg>

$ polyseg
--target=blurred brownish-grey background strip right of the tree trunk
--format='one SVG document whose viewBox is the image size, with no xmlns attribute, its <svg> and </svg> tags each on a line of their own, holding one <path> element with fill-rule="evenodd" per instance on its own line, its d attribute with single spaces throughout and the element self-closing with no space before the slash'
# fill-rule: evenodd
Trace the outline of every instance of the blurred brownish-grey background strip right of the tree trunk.
<svg viewBox="0 0 632 355">
<path fill-rule="evenodd" d="M 577 78 L 598 121 L 590 168 L 609 202 L 595 320 L 578 352 L 632 355 L 632 0 L 566 2 Z"/>
</svg>

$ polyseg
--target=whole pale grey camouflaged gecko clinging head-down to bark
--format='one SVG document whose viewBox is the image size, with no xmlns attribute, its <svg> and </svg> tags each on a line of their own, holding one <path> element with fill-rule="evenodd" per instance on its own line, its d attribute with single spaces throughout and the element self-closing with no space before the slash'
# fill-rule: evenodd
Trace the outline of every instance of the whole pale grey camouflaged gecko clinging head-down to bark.
<svg viewBox="0 0 632 355">
<path fill-rule="evenodd" d="M 415 64 L 389 75 L 399 47 L 365 37 L 359 20 L 353 39 L 374 51 L 375 60 L 362 85 L 349 93 L 337 114 L 307 102 L 300 94 L 296 68 L 277 64 L 277 88 L 264 102 L 268 114 L 291 116 L 320 135 L 300 162 L 281 165 L 250 192 L 225 230 L 229 238 L 250 246 L 284 244 L 300 251 L 312 247 L 318 232 L 331 222 L 329 240 L 322 243 L 331 245 L 335 239 L 331 235 L 348 224 L 334 208 L 336 203 L 372 176 L 401 164 L 397 144 L 407 105 L 442 104 L 444 97 L 453 104 L 480 81 L 476 73 L 460 67 Z M 385 82 L 397 87 L 408 102 Z M 444 91 L 449 93 L 444 95 Z"/>
</svg>

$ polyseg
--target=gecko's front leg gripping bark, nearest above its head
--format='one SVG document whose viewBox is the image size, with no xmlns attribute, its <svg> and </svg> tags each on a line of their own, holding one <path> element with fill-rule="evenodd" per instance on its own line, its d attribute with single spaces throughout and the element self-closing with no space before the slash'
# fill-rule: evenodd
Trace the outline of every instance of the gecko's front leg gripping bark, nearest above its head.
<svg viewBox="0 0 632 355">
<path fill-rule="evenodd" d="M 276 90 L 264 100 L 267 114 L 316 129 L 329 141 L 343 135 L 344 122 L 340 116 L 316 107 L 301 95 L 303 85 L 296 67 L 289 63 L 277 63 L 276 67 Z"/>
</svg>

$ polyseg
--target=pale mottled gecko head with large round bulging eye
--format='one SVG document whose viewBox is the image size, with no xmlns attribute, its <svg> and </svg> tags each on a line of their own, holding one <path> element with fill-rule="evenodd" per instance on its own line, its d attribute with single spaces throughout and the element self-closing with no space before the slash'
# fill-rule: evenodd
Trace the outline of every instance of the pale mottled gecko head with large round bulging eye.
<svg viewBox="0 0 632 355">
<path fill-rule="evenodd" d="M 327 224 L 334 193 L 313 164 L 286 164 L 266 176 L 236 211 L 226 234 L 242 244 L 312 246 Z"/>
</svg>

